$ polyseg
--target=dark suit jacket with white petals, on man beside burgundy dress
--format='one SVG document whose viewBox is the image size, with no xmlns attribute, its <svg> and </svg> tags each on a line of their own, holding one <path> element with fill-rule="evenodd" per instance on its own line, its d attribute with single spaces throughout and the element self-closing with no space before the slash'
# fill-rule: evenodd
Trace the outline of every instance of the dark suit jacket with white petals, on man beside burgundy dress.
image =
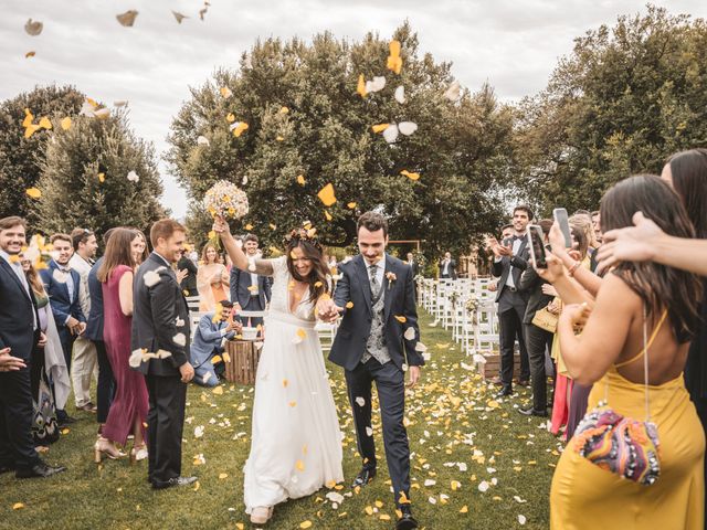
<svg viewBox="0 0 707 530">
<path fill-rule="evenodd" d="M 165 359 L 143 362 L 140 372 L 179 375 L 179 367 L 189 362 L 189 307 L 175 272 L 155 253 L 137 269 L 133 301 L 133 351 L 145 348 L 151 353 L 158 350 L 171 353 Z"/>
</svg>

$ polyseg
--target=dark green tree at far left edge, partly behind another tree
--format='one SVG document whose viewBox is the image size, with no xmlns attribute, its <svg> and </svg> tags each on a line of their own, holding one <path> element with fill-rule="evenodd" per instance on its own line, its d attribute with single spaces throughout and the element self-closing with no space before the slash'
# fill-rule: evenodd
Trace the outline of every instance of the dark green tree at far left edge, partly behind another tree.
<svg viewBox="0 0 707 530">
<path fill-rule="evenodd" d="M 20 94 L 0 104 L 0 218 L 21 215 L 31 224 L 38 216 L 33 200 L 24 193 L 36 186 L 44 160 L 46 139 L 52 130 L 40 129 L 24 137 L 24 109 L 34 115 L 38 123 L 49 117 L 59 119 L 78 114 L 85 96 L 72 86 L 43 86 Z"/>
</svg>

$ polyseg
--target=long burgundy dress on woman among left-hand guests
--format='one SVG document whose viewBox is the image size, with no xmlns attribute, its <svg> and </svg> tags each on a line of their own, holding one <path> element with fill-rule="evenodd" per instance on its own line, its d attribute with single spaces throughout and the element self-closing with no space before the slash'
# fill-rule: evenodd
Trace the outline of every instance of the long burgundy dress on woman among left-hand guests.
<svg viewBox="0 0 707 530">
<path fill-rule="evenodd" d="M 130 358 L 130 326 L 133 317 L 126 317 L 120 310 L 119 284 L 120 277 L 133 269 L 127 265 L 118 265 L 113 269 L 103 287 L 103 340 L 110 368 L 115 375 L 116 392 L 108 413 L 108 420 L 103 427 L 103 435 L 125 445 L 128 434 L 133 432 L 135 420 L 140 421 L 143 439 L 146 438 L 145 422 L 147 421 L 148 395 L 145 377 L 133 370 L 128 363 Z"/>
</svg>

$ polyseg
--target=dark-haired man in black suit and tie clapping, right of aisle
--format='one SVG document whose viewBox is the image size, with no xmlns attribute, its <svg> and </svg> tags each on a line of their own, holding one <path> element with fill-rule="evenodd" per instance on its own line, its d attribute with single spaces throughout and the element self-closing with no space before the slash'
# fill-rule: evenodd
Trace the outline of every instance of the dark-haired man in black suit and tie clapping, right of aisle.
<svg viewBox="0 0 707 530">
<path fill-rule="evenodd" d="M 498 325 L 500 341 L 500 379 L 499 395 L 513 394 L 514 350 L 516 339 L 520 350 L 520 374 L 518 384 L 527 386 L 530 381 L 530 363 L 523 332 L 523 319 L 528 305 L 527 294 L 519 292 L 520 275 L 527 268 L 528 247 L 526 231 L 532 211 L 529 206 L 517 205 L 513 212 L 514 236 L 504 240 L 503 244 L 490 240 L 494 264 L 492 273 L 499 278 L 496 301 L 498 303 Z"/>
</svg>

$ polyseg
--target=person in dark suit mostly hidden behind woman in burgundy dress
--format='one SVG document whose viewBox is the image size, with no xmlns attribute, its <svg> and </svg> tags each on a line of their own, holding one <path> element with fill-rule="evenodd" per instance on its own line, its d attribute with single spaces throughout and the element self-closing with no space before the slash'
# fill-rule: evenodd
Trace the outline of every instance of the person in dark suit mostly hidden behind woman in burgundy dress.
<svg viewBox="0 0 707 530">
<path fill-rule="evenodd" d="M 110 234 L 115 229 L 108 229 L 103 234 L 103 244 L 107 246 Z M 96 359 L 98 361 L 98 384 L 96 385 L 96 421 L 98 422 L 98 437 L 103 433 L 103 424 L 108 418 L 108 411 L 115 396 L 115 377 L 110 368 L 110 360 L 106 351 L 106 343 L 103 340 L 104 309 L 103 309 L 103 285 L 98 280 L 98 269 L 103 264 L 103 256 L 94 263 L 88 273 L 88 294 L 91 296 L 91 311 L 86 321 L 86 338 L 93 341 L 96 347 Z"/>
</svg>

